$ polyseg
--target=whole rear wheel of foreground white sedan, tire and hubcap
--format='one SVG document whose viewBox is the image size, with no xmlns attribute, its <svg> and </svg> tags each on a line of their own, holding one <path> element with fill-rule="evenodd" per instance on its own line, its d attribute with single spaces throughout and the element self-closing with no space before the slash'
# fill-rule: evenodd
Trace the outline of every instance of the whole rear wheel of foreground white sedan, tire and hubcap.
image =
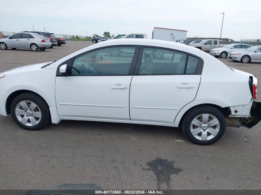
<svg viewBox="0 0 261 195">
<path fill-rule="evenodd" d="M 182 121 L 186 137 L 198 145 L 209 145 L 219 140 L 226 128 L 225 118 L 212 106 L 200 106 L 189 111 Z"/>
</svg>

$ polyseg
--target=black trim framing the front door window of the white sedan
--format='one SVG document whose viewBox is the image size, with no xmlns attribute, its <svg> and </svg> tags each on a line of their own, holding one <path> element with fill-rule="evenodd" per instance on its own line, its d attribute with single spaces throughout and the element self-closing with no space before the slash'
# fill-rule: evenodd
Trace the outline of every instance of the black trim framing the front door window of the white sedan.
<svg viewBox="0 0 261 195">
<path fill-rule="evenodd" d="M 132 62 L 131 62 L 130 68 L 129 68 L 128 75 L 72 75 L 72 74 L 70 74 L 70 72 L 72 71 L 74 60 L 76 58 L 78 58 L 78 57 L 80 57 L 82 55 L 91 53 L 93 51 L 97 51 L 97 50 L 101 50 L 101 49 L 107 49 L 107 48 L 111 48 L 111 47 L 136 47 L 134 55 L 133 55 L 133 59 L 132 59 Z M 135 69 L 135 65 L 137 63 L 137 57 L 138 57 L 139 50 L 140 50 L 140 46 L 139 45 L 113 45 L 113 46 L 107 46 L 107 47 L 99 47 L 99 48 L 96 48 L 96 49 L 93 49 L 93 50 L 90 50 L 90 51 L 86 51 L 84 53 L 76 55 L 73 58 L 70 58 L 70 59 L 66 60 L 65 62 L 61 63 L 57 67 L 56 76 L 130 76 L 130 75 L 134 74 L 134 69 Z M 60 74 L 59 68 L 63 64 L 67 64 L 67 71 L 68 71 L 67 75 L 61 75 Z"/>
</svg>

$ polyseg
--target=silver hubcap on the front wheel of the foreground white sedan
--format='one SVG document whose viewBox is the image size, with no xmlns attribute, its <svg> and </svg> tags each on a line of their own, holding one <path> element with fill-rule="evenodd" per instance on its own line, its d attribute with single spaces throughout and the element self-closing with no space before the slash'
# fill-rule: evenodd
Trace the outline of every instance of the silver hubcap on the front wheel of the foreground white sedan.
<svg viewBox="0 0 261 195">
<path fill-rule="evenodd" d="M 40 108 L 31 101 L 21 101 L 15 107 L 16 118 L 26 126 L 35 126 L 40 123 L 42 113 Z"/>
</svg>

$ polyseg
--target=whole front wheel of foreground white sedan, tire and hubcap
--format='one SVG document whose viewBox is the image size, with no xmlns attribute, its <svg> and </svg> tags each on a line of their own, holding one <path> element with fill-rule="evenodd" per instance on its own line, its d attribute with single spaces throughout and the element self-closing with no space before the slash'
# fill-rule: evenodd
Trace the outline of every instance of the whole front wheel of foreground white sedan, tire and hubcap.
<svg viewBox="0 0 261 195">
<path fill-rule="evenodd" d="M 36 94 L 18 95 L 11 103 L 11 116 L 15 123 L 27 130 L 39 130 L 50 121 L 47 103 Z"/>
</svg>

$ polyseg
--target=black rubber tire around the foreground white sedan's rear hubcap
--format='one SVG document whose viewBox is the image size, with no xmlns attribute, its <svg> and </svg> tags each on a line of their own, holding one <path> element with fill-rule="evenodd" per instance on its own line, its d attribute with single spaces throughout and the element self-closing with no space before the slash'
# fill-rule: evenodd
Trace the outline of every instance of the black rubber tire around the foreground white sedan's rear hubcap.
<svg viewBox="0 0 261 195">
<path fill-rule="evenodd" d="M 191 132 L 191 125 L 192 125 L 192 120 L 194 120 L 197 116 L 202 115 L 202 114 L 210 114 L 213 115 L 214 117 L 216 117 L 216 119 L 219 122 L 219 131 L 216 134 L 216 136 L 214 136 L 212 139 L 210 140 L 199 140 L 196 137 L 194 137 L 192 135 Z M 209 121 L 210 122 L 210 121 Z M 203 125 L 203 124 L 202 124 Z M 208 124 L 206 124 L 208 125 Z M 194 127 L 194 126 L 192 126 Z M 202 127 L 203 128 L 203 127 Z M 207 128 L 208 129 L 208 128 Z M 182 121 L 182 130 L 185 134 L 185 136 L 194 144 L 198 144 L 198 145 L 209 145 L 209 144 L 213 144 L 216 141 L 218 141 L 224 134 L 226 129 L 226 123 L 225 123 L 225 118 L 222 115 L 222 113 L 217 110 L 216 108 L 212 107 L 212 106 L 200 106 L 200 107 L 196 107 L 192 110 L 190 110 L 186 116 L 184 116 L 183 121 Z M 207 130 L 202 130 L 202 131 L 207 131 Z M 202 133 L 202 132 L 200 132 Z M 198 133 L 198 135 L 200 134 Z M 208 136 L 212 136 L 208 131 L 207 131 Z M 196 135 L 196 136 L 198 136 Z M 202 135 L 202 134 L 201 134 Z M 207 137 L 208 137 L 207 136 Z M 210 137 L 211 138 L 211 137 Z"/>
</svg>

